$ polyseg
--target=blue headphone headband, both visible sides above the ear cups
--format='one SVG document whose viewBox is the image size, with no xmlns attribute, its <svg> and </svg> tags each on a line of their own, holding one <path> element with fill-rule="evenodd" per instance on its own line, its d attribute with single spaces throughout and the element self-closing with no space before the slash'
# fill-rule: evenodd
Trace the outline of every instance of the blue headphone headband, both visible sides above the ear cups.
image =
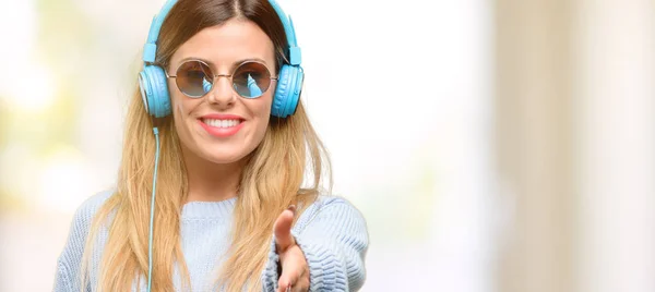
<svg viewBox="0 0 655 292">
<path fill-rule="evenodd" d="M 157 53 L 157 40 L 159 38 L 159 31 L 162 29 L 162 24 L 170 12 L 170 9 L 177 3 L 177 0 L 167 0 L 159 13 L 157 13 L 153 17 L 153 22 L 151 24 L 151 28 L 147 33 L 147 40 L 145 46 L 143 46 L 143 61 L 146 63 L 155 62 L 155 56 Z M 298 47 L 298 42 L 296 41 L 296 31 L 294 29 L 294 22 L 290 16 L 287 16 L 286 13 L 282 10 L 279 4 L 275 2 L 275 0 L 269 0 L 269 3 L 273 7 L 277 16 L 282 21 L 282 25 L 284 26 L 284 32 L 287 36 L 287 45 L 289 47 L 289 62 L 291 65 L 299 65 L 302 61 L 300 54 L 300 48 Z"/>
</svg>

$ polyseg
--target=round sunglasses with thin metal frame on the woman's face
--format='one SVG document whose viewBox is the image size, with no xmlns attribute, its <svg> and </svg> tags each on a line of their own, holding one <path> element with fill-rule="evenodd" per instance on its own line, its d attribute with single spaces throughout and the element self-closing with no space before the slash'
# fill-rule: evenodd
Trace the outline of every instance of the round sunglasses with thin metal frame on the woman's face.
<svg viewBox="0 0 655 292">
<path fill-rule="evenodd" d="M 176 75 L 168 75 L 166 72 L 166 76 L 175 78 L 180 92 L 191 98 L 206 95 L 221 76 L 230 78 L 233 88 L 243 98 L 262 96 L 271 87 L 271 81 L 277 80 L 271 77 L 266 65 L 258 61 L 240 63 L 231 74 L 227 75 L 214 74 L 212 68 L 202 60 L 188 60 L 178 66 Z"/>
</svg>

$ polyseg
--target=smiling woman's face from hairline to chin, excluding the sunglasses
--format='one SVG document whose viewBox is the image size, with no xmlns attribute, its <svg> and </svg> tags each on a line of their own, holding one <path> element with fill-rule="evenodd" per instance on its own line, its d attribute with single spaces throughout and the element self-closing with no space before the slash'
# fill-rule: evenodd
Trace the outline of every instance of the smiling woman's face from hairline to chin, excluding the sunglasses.
<svg viewBox="0 0 655 292">
<path fill-rule="evenodd" d="M 215 75 L 229 75 L 245 60 L 263 63 L 275 76 L 273 42 L 257 24 L 230 20 L 207 27 L 182 44 L 172 54 L 169 75 L 187 59 L 203 60 Z M 179 76 L 178 76 L 179 78 Z M 261 143 L 271 114 L 275 81 L 259 98 L 240 97 L 229 77 L 216 77 L 201 98 L 180 92 L 168 78 L 175 127 L 186 155 L 214 163 L 241 160 Z"/>
</svg>

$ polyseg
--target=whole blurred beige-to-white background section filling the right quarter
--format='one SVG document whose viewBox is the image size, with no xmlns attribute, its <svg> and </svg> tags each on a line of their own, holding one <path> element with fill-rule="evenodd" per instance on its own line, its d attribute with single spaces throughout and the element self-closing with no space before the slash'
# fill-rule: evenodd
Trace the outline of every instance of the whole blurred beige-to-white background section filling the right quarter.
<svg viewBox="0 0 655 292">
<path fill-rule="evenodd" d="M 497 0 L 497 291 L 655 291 L 654 2 Z"/>
</svg>

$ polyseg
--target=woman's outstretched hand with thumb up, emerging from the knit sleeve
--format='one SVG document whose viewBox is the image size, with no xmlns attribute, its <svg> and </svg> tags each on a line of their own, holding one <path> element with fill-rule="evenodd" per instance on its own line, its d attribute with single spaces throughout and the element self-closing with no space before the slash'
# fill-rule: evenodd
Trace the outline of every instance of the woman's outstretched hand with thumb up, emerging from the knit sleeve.
<svg viewBox="0 0 655 292">
<path fill-rule="evenodd" d="M 305 254 L 296 240 L 291 236 L 291 223 L 296 207 L 284 210 L 275 220 L 275 248 L 279 255 L 282 275 L 277 281 L 277 292 L 306 292 L 309 291 L 309 266 Z"/>
</svg>

